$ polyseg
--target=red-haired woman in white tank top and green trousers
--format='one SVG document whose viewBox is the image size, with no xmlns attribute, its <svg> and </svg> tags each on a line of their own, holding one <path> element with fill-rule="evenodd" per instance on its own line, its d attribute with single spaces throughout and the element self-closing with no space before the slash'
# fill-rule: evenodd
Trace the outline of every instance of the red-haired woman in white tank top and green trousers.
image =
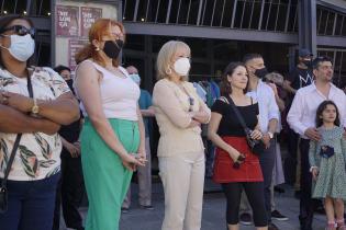
<svg viewBox="0 0 346 230">
<path fill-rule="evenodd" d="M 146 161 L 139 88 L 119 65 L 123 43 L 123 25 L 100 19 L 76 56 L 75 89 L 85 116 L 80 141 L 87 230 L 119 229 L 132 173 Z"/>
</svg>

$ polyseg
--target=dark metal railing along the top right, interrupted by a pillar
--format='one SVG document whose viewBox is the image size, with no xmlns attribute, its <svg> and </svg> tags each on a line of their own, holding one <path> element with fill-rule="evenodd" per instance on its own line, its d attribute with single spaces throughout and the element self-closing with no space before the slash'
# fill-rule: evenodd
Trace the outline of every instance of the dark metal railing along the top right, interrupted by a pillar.
<svg viewBox="0 0 346 230">
<path fill-rule="evenodd" d="M 123 21 L 298 32 L 298 0 L 123 0 Z M 317 5 L 319 35 L 346 36 L 346 15 Z"/>
</svg>

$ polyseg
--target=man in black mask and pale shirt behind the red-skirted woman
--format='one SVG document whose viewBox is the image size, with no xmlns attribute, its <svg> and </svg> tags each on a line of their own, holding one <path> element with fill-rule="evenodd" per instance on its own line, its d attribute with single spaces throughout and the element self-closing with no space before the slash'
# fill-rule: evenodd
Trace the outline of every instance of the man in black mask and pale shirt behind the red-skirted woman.
<svg viewBox="0 0 346 230">
<path fill-rule="evenodd" d="M 259 157 L 259 163 L 264 175 L 265 204 L 269 221 L 268 229 L 276 230 L 278 228 L 271 223 L 270 185 L 276 159 L 276 145 L 274 135 L 279 120 L 279 107 L 276 103 L 274 91 L 261 80 L 268 73 L 261 55 L 248 54 L 244 57 L 244 64 L 249 77 L 249 92 L 247 95 L 252 96 L 258 102 L 258 122 L 260 125 L 260 130 L 264 135 L 263 140 L 266 145 L 265 152 Z"/>
</svg>

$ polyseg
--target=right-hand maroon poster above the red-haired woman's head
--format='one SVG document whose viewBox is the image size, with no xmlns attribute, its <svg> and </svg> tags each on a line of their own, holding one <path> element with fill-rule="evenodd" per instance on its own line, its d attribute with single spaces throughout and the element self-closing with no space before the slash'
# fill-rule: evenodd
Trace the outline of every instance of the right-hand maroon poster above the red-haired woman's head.
<svg viewBox="0 0 346 230">
<path fill-rule="evenodd" d="M 80 8 L 80 36 L 88 37 L 92 23 L 102 18 L 101 8 Z"/>
</svg>

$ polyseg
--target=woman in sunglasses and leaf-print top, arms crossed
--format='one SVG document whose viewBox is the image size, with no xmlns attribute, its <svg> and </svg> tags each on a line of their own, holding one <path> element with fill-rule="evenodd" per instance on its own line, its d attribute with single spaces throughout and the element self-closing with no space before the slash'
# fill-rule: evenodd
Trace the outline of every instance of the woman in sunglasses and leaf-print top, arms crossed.
<svg viewBox="0 0 346 230">
<path fill-rule="evenodd" d="M 79 118 L 64 79 L 49 68 L 29 67 L 34 35 L 26 18 L 0 19 L 0 186 L 7 181 L 8 191 L 0 228 L 7 230 L 52 229 L 60 176 L 57 131 Z"/>
</svg>

